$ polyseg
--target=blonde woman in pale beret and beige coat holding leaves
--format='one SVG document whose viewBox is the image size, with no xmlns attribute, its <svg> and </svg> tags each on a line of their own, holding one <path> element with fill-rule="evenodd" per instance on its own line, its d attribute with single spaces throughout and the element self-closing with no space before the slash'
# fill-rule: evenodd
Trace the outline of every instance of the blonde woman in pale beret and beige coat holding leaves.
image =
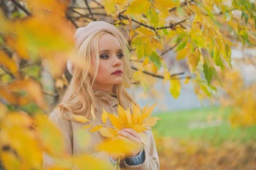
<svg viewBox="0 0 256 170">
<path fill-rule="evenodd" d="M 94 147 L 105 140 L 99 131 L 88 133 L 90 141 L 86 146 L 79 144 L 76 130 L 88 125 L 88 122 L 77 122 L 71 115 L 82 115 L 92 120 L 90 107 L 95 109 L 96 122 L 102 124 L 102 109 L 108 113 L 117 113 L 118 103 L 125 108 L 132 108 L 134 99 L 127 93 L 124 85 L 129 85 L 131 65 L 129 63 L 125 37 L 113 25 L 104 21 L 93 21 L 87 26 L 78 28 L 74 40 L 79 57 L 90 66 L 74 66 L 67 63 L 70 74 L 73 75 L 70 85 L 49 115 L 64 134 L 66 151 L 70 155 L 89 153 L 103 158 L 114 165 L 117 157 L 104 152 L 96 152 Z M 108 119 L 106 125 L 112 125 Z M 88 129 L 84 129 L 87 132 Z M 142 145 L 139 134 L 130 129 L 122 129 L 120 135 L 137 144 L 131 155 L 125 155 L 121 160 L 121 168 L 127 170 L 159 170 L 158 154 L 151 130 L 146 130 L 149 145 Z M 53 159 L 44 153 L 44 169 L 53 164 Z M 112 167 L 112 166 L 111 166 Z M 76 169 L 74 167 L 73 169 Z"/>
</svg>

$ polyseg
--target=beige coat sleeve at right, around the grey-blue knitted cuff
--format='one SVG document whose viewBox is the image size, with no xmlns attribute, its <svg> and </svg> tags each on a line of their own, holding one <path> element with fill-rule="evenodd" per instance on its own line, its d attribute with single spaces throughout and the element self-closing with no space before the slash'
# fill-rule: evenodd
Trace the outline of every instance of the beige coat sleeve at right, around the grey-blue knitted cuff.
<svg viewBox="0 0 256 170">
<path fill-rule="evenodd" d="M 160 163 L 157 154 L 157 148 L 155 145 L 154 137 L 150 130 L 146 130 L 146 135 L 148 137 L 148 145 L 145 145 L 145 161 L 143 164 L 129 166 L 124 160 L 124 164 L 127 170 L 159 170 Z"/>
</svg>

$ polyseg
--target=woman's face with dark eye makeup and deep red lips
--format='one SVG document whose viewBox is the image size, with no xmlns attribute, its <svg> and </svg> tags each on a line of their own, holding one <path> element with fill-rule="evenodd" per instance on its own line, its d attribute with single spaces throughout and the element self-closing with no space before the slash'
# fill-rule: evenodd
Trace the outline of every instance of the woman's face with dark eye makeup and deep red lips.
<svg viewBox="0 0 256 170">
<path fill-rule="evenodd" d="M 109 33 L 102 34 L 99 38 L 99 69 L 93 90 L 110 91 L 113 85 L 122 83 L 124 62 L 123 51 L 116 37 Z M 120 71 L 113 74 L 114 71 Z"/>
</svg>

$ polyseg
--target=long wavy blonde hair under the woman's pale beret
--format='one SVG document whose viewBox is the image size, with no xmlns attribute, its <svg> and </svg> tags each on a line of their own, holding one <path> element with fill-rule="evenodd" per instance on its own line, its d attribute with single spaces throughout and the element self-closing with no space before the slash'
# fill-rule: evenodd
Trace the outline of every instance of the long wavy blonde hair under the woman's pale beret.
<svg viewBox="0 0 256 170">
<path fill-rule="evenodd" d="M 121 45 L 124 57 L 124 71 L 123 71 L 123 82 L 118 85 L 113 85 L 113 93 L 116 94 L 119 104 L 128 109 L 128 102 L 134 101 L 134 91 L 131 88 L 129 78 L 131 77 L 131 65 L 128 59 L 128 50 L 126 49 L 126 43 L 123 42 L 111 31 L 98 31 L 90 34 L 84 42 L 81 44 L 78 55 L 84 59 L 87 63 L 91 63 L 93 57 L 96 57 L 96 67 L 84 68 L 84 67 L 74 67 L 73 77 L 70 81 L 70 85 L 65 91 L 64 95 L 59 99 L 53 111 L 57 111 L 61 118 L 77 122 L 75 119 L 70 119 L 63 116 L 65 111 L 72 112 L 75 115 L 85 116 L 87 119 L 91 118 L 90 109 L 91 104 L 95 106 L 95 96 L 93 93 L 92 85 L 95 82 L 97 70 L 99 68 L 99 38 L 102 34 L 109 33 L 115 36 Z M 92 80 L 92 81 L 91 81 Z M 124 85 L 128 85 L 131 88 L 131 97 L 125 90 Z M 78 97 L 78 100 L 75 98 Z"/>
</svg>

